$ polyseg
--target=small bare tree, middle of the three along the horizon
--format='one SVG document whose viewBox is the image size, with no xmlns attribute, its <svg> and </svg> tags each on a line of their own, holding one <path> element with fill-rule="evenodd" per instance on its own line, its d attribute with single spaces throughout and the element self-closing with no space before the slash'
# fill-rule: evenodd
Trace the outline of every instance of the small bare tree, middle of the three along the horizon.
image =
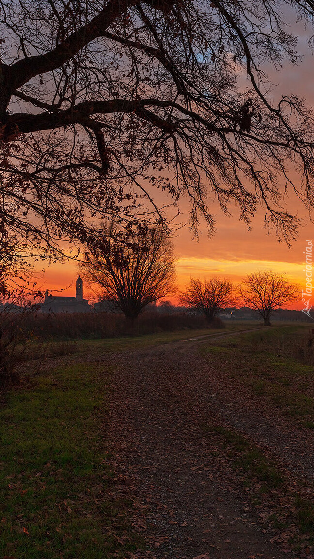
<svg viewBox="0 0 314 559">
<path fill-rule="evenodd" d="M 234 305 L 232 283 L 226 279 L 212 277 L 210 280 L 194 280 L 180 294 L 180 302 L 191 309 L 201 310 L 209 323 L 218 312 Z"/>
</svg>

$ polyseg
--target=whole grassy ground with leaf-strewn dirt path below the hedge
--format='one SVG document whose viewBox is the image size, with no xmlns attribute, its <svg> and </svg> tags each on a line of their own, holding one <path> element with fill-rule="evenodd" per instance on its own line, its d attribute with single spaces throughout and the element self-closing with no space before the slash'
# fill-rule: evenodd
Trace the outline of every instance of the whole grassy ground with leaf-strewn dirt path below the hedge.
<svg viewBox="0 0 314 559">
<path fill-rule="evenodd" d="M 27 356 L 0 410 L 0 557 L 314 557 L 308 324 Z"/>
</svg>

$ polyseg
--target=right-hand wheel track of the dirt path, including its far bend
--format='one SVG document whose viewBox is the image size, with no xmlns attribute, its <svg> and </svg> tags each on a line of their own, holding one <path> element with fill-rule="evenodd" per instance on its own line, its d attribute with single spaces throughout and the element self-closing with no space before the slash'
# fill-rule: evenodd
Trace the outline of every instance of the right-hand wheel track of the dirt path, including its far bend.
<svg viewBox="0 0 314 559">
<path fill-rule="evenodd" d="M 254 328 L 243 330 L 247 333 Z M 215 334 L 211 340 L 232 337 L 235 333 Z M 221 424 L 235 428 L 240 433 L 249 435 L 256 443 L 269 448 L 289 471 L 314 486 L 314 432 L 287 424 L 287 419 L 271 404 L 248 391 L 240 391 L 239 386 L 230 382 L 229 375 L 223 369 L 217 370 L 206 363 L 197 349 L 203 337 L 192 338 L 187 342 L 176 342 L 151 348 L 146 353 L 158 355 L 175 361 L 179 358 L 193 359 L 198 363 L 193 390 L 203 408 L 210 410 Z M 141 359 L 146 359 L 142 353 Z M 258 404 L 258 405 L 256 405 Z"/>
</svg>

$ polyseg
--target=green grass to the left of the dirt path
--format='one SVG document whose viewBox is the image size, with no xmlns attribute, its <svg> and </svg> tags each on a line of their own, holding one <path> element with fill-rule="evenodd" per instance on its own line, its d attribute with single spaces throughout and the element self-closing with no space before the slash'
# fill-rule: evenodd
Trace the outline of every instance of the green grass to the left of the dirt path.
<svg viewBox="0 0 314 559">
<path fill-rule="evenodd" d="M 0 557 L 122 559 L 138 547 L 129 504 L 106 497 L 106 397 L 97 364 L 60 367 L 8 396 L 0 411 Z"/>
</svg>

